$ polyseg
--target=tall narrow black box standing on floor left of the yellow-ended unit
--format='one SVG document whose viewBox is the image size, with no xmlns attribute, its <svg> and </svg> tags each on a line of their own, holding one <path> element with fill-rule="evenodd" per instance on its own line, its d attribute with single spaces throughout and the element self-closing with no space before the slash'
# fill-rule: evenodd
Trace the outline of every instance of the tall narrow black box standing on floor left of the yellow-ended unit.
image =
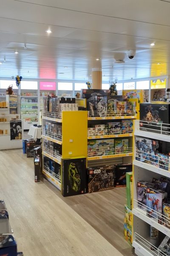
<svg viewBox="0 0 170 256">
<path fill-rule="evenodd" d="M 34 174 L 35 182 L 40 182 L 40 174 L 42 172 L 42 148 L 34 148 Z"/>
</svg>

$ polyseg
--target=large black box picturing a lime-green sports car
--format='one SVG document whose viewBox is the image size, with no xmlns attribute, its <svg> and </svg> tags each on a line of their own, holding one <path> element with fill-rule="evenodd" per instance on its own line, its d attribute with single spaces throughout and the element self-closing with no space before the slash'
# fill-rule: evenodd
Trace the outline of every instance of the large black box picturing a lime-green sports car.
<svg viewBox="0 0 170 256">
<path fill-rule="evenodd" d="M 80 195 L 86 192 L 86 158 L 62 159 L 62 195 Z"/>
</svg>

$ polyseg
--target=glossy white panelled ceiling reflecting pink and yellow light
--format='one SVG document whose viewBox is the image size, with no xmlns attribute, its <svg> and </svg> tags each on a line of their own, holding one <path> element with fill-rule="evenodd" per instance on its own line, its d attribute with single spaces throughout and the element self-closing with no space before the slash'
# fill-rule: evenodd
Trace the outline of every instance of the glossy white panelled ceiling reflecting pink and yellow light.
<svg viewBox="0 0 170 256">
<path fill-rule="evenodd" d="M 0 77 L 86 81 L 93 67 L 103 81 L 169 75 L 169 12 L 167 0 L 0 0 Z"/>
</svg>

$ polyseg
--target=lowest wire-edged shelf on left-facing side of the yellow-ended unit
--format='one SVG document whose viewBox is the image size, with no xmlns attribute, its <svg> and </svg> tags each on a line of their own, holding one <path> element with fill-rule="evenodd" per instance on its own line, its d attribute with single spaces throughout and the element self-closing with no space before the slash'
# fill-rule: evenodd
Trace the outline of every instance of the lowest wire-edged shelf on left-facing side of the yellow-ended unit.
<svg viewBox="0 0 170 256">
<path fill-rule="evenodd" d="M 46 178 L 59 190 L 61 190 L 61 177 L 60 175 L 55 174 L 46 166 L 43 166 L 42 173 L 46 176 Z"/>
</svg>

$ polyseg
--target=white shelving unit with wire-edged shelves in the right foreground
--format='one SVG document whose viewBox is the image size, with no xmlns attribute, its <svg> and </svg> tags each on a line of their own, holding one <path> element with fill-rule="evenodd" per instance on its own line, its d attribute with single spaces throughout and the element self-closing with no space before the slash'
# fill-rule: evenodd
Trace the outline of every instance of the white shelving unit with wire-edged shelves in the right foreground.
<svg viewBox="0 0 170 256">
<path fill-rule="evenodd" d="M 161 124 L 161 126 L 163 127 L 164 124 Z M 154 124 L 153 129 L 155 130 Z M 141 131 L 140 120 L 136 120 L 134 132 L 135 136 L 170 142 L 170 136 L 163 134 L 162 129 L 157 132 L 159 133 Z M 136 145 L 134 145 L 135 156 L 138 154 L 138 152 L 136 152 Z M 159 248 L 155 247 L 152 244 L 152 241 L 150 241 L 149 230 L 150 226 L 152 226 L 161 233 L 170 237 L 170 228 L 164 225 L 164 223 L 169 225 L 170 219 L 156 211 L 154 214 L 155 217 L 152 215 L 152 218 L 150 218 L 148 216 L 148 212 L 146 211 L 146 206 L 137 201 L 137 182 L 140 180 L 152 182 L 153 177 L 160 178 L 162 176 L 170 178 L 170 170 L 168 171 L 161 169 L 151 161 L 150 163 L 144 163 L 136 159 L 133 160 L 133 247 L 135 248 L 135 253 L 138 256 L 166 256 L 164 252 L 160 251 Z M 147 207 L 147 209 L 154 211 L 149 207 Z M 160 221 L 158 221 L 160 218 L 162 224 L 160 224 Z"/>
</svg>

